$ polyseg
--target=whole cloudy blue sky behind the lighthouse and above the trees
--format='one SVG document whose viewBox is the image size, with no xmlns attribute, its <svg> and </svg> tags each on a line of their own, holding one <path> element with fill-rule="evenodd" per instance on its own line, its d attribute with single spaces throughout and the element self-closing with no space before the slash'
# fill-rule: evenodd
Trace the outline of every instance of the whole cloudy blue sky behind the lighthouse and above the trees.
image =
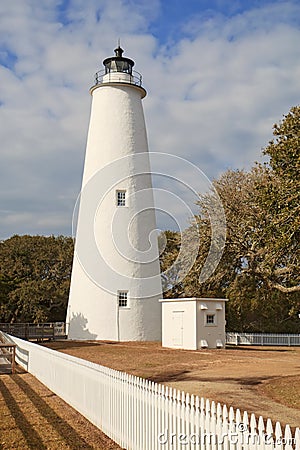
<svg viewBox="0 0 300 450">
<path fill-rule="evenodd" d="M 143 74 L 150 151 L 213 179 L 261 161 L 299 104 L 299 25 L 298 0 L 1 2 L 0 239 L 71 234 L 88 90 L 118 38 Z"/>
</svg>

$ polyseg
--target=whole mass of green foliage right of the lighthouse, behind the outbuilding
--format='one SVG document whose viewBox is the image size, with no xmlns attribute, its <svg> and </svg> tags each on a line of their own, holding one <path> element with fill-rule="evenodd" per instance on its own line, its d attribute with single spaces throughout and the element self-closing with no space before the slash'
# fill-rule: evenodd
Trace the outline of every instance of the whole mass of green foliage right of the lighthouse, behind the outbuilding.
<svg viewBox="0 0 300 450">
<path fill-rule="evenodd" d="M 300 328 L 300 107 L 274 125 L 274 136 L 264 150 L 269 164 L 249 172 L 229 170 L 214 182 L 226 215 L 226 246 L 217 269 L 202 284 L 199 275 L 210 246 L 209 211 L 216 204 L 215 192 L 201 196 L 198 203 L 199 253 L 180 290 L 184 296 L 228 298 L 228 330 Z M 192 226 L 189 232 L 194 234 Z M 173 260 L 176 252 L 179 249 L 173 248 Z M 168 248 L 161 259 L 162 267 L 171 261 Z M 175 292 L 172 286 L 167 294 L 174 297 Z"/>
</svg>

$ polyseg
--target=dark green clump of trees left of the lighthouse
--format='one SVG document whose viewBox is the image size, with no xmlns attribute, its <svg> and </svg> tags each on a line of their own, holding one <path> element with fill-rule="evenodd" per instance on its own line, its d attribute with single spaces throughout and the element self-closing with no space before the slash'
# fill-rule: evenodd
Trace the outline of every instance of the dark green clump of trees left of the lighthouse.
<svg viewBox="0 0 300 450">
<path fill-rule="evenodd" d="M 0 322 L 65 320 L 73 239 L 13 236 L 0 244 Z"/>
</svg>

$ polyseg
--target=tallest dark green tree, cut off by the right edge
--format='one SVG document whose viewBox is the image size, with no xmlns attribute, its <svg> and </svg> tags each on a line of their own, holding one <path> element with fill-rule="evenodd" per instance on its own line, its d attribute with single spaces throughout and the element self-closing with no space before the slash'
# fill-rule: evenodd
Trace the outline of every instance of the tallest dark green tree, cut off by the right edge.
<svg viewBox="0 0 300 450">
<path fill-rule="evenodd" d="M 258 186 L 259 202 L 272 218 L 265 229 L 268 282 L 284 293 L 300 292 L 300 106 L 274 125 L 273 134 L 264 149 L 268 182 Z"/>
</svg>

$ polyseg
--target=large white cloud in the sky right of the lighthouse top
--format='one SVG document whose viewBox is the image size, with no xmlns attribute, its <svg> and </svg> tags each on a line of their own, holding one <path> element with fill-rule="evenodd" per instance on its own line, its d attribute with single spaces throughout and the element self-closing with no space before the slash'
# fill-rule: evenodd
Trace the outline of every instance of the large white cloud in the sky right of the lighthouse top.
<svg viewBox="0 0 300 450">
<path fill-rule="evenodd" d="M 218 21 L 213 38 L 201 31 L 178 43 L 166 59 L 164 75 L 156 82 L 151 78 L 155 100 L 146 111 L 151 108 L 153 150 L 160 150 L 161 142 L 165 151 L 192 158 L 210 176 L 226 167 L 247 168 L 260 157 L 273 123 L 299 102 L 300 50 L 295 43 L 300 32 L 276 22 L 265 29 L 259 16 L 268 13 L 274 20 L 278 11 L 275 18 L 271 12 L 269 7 L 256 10 L 256 21 L 254 12 Z M 224 29 L 235 34 L 240 22 L 247 32 L 228 40 Z M 162 111 L 163 122 L 155 109 Z M 163 133 L 167 136 L 161 140 Z"/>
</svg>

